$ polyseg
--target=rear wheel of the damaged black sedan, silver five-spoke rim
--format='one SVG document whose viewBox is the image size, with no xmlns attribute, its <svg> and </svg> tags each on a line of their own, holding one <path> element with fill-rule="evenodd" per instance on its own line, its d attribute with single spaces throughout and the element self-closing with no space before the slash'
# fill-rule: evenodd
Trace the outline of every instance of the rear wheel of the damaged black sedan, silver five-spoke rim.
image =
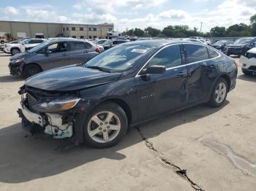
<svg viewBox="0 0 256 191">
<path fill-rule="evenodd" d="M 222 106 L 227 97 L 227 81 L 224 78 L 217 79 L 211 92 L 211 98 L 208 104 L 212 107 Z"/>
</svg>

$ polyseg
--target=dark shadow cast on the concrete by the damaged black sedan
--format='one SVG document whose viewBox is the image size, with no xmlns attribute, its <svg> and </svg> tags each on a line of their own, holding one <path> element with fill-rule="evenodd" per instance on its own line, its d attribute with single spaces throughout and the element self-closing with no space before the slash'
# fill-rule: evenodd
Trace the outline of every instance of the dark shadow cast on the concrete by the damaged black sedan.
<svg viewBox="0 0 256 191">
<path fill-rule="evenodd" d="M 225 105 L 229 104 L 228 101 Z M 223 107 L 222 106 L 222 107 Z M 174 114 L 167 114 L 158 120 L 140 125 L 147 131 L 147 139 L 186 124 L 207 117 L 220 108 L 210 108 L 206 104 L 185 109 Z M 121 150 L 132 147 L 142 141 L 136 128 L 129 128 L 127 136 L 115 147 L 108 149 L 92 149 L 85 145 L 72 147 L 67 151 L 56 151 L 60 140 L 45 136 L 30 136 L 20 128 L 20 123 L 0 129 L 0 182 L 29 182 L 48 176 L 61 174 L 94 160 L 108 158 L 123 160 L 126 155 Z"/>
</svg>

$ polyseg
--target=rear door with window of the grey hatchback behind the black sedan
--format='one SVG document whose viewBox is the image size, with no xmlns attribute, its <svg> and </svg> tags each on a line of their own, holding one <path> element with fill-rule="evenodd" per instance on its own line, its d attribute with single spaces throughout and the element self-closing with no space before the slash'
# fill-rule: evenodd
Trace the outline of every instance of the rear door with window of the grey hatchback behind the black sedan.
<svg viewBox="0 0 256 191">
<path fill-rule="evenodd" d="M 97 55 L 96 48 L 88 42 L 70 42 L 69 50 L 70 64 L 84 63 Z"/>
</svg>

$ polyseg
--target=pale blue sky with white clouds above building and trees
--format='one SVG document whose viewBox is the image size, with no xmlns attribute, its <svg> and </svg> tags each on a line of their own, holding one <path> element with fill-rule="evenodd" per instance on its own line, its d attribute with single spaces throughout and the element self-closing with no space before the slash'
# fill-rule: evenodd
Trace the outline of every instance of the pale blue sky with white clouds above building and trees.
<svg viewBox="0 0 256 191">
<path fill-rule="evenodd" d="M 256 0 L 9 0 L 0 20 L 49 23 L 114 23 L 116 31 L 187 25 L 207 32 L 214 26 L 249 24 Z"/>
</svg>

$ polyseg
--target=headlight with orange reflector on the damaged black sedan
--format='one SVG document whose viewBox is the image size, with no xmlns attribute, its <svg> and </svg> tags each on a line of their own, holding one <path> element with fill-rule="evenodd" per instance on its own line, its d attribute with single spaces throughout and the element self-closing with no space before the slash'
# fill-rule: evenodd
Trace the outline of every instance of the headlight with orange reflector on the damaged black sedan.
<svg viewBox="0 0 256 191">
<path fill-rule="evenodd" d="M 32 107 L 39 112 L 61 112 L 72 109 L 78 104 L 78 101 L 80 101 L 80 98 L 56 99 L 50 102 L 42 102 Z"/>
</svg>

